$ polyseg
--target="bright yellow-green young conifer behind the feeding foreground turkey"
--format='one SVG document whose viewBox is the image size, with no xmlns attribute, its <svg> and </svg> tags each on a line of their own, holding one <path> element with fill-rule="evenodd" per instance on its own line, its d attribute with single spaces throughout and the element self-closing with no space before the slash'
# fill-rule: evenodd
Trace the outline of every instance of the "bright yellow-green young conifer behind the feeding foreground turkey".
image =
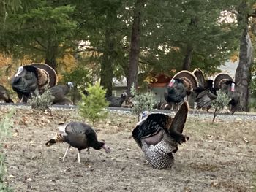
<svg viewBox="0 0 256 192">
<path fill-rule="evenodd" d="M 97 120 L 107 118 L 108 101 L 105 99 L 106 90 L 97 82 L 95 85 L 89 85 L 86 89 L 89 96 L 81 93 L 82 99 L 78 104 L 78 110 L 83 118 L 88 118 L 93 124 Z"/>
</svg>

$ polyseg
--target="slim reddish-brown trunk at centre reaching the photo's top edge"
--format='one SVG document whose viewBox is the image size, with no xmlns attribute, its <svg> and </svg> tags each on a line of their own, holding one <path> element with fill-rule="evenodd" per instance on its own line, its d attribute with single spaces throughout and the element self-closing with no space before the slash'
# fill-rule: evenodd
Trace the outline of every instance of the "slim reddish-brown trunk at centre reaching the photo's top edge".
<svg viewBox="0 0 256 192">
<path fill-rule="evenodd" d="M 129 69 L 127 79 L 127 94 L 131 96 L 132 84 L 137 88 L 138 85 L 138 61 L 140 54 L 140 19 L 141 11 L 146 0 L 136 0 L 133 12 L 131 48 L 129 52 Z"/>
</svg>

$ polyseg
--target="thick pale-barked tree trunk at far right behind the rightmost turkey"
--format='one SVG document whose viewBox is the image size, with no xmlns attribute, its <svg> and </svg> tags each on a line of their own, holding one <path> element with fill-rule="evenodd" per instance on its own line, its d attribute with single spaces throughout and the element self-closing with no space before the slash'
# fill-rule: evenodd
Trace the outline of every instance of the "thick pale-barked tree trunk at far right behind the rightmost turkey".
<svg viewBox="0 0 256 192">
<path fill-rule="evenodd" d="M 251 80 L 250 67 L 252 64 L 252 41 L 248 33 L 248 13 L 246 10 L 246 2 L 241 3 L 238 8 L 240 17 L 238 25 L 243 28 L 240 39 L 239 63 L 236 69 L 235 81 L 240 90 L 240 110 L 249 111 L 249 83 Z"/>
</svg>

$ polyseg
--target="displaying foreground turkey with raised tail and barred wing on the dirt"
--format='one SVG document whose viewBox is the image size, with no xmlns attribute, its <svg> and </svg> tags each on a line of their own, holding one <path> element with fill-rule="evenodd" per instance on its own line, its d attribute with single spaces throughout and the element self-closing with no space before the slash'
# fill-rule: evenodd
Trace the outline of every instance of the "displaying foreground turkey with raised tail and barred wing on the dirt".
<svg viewBox="0 0 256 192">
<path fill-rule="evenodd" d="M 133 129 L 132 137 L 153 168 L 173 166 L 173 153 L 177 152 L 178 144 L 189 139 L 182 134 L 188 110 L 189 106 L 184 102 L 174 118 L 162 113 L 151 113 Z"/>
</svg>

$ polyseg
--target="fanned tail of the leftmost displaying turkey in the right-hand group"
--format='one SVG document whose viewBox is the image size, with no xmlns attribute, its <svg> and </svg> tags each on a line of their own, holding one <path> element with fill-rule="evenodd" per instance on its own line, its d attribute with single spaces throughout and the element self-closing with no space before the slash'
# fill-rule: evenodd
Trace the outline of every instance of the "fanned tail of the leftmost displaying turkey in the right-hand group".
<svg viewBox="0 0 256 192">
<path fill-rule="evenodd" d="M 190 88 L 197 88 L 198 87 L 197 77 L 195 77 L 195 74 L 192 74 L 192 72 L 189 72 L 187 70 L 183 70 L 181 72 L 176 73 L 173 76 L 173 79 L 184 80 L 184 82 L 188 83 Z"/>
</svg>

